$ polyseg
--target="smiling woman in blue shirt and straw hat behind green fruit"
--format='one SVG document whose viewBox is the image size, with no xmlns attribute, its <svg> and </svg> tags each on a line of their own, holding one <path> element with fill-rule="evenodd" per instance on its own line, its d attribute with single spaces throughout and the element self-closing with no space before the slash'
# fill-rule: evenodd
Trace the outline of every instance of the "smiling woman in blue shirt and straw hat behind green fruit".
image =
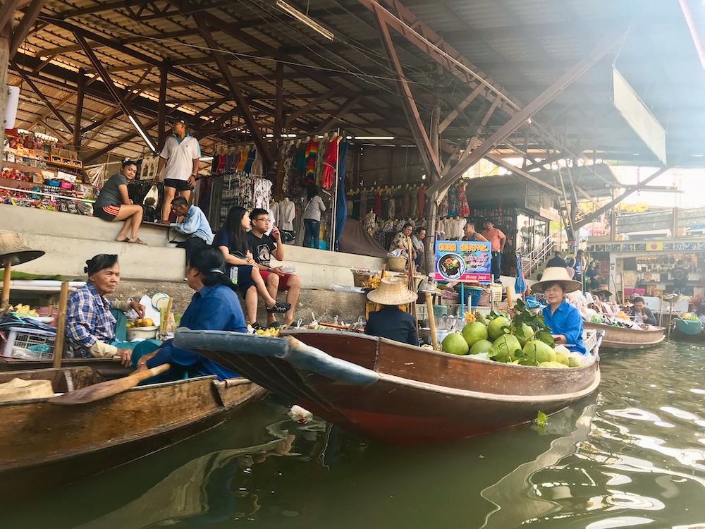
<svg viewBox="0 0 705 529">
<path fill-rule="evenodd" d="M 531 287 L 534 293 L 543 293 L 548 306 L 541 312 L 544 323 L 551 327 L 551 335 L 556 344 L 568 347 L 570 351 L 587 354 L 582 343 L 582 316 L 580 311 L 565 300 L 565 294 L 582 289 L 582 283 L 570 279 L 563 267 L 548 267 L 541 281 Z"/>
</svg>

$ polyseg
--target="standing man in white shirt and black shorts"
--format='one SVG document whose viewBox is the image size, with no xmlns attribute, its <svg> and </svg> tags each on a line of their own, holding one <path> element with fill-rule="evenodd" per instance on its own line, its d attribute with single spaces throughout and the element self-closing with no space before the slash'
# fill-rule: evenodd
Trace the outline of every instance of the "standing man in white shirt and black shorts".
<svg viewBox="0 0 705 529">
<path fill-rule="evenodd" d="M 164 176 L 164 202 L 161 205 L 161 224 L 169 224 L 171 200 L 176 193 L 188 202 L 198 174 L 198 159 L 201 147 L 198 140 L 188 133 L 188 119 L 176 118 L 173 122 L 173 135 L 166 138 L 164 149 L 159 154 L 157 175 L 154 184 L 159 182 L 159 174 L 166 166 Z"/>
</svg>

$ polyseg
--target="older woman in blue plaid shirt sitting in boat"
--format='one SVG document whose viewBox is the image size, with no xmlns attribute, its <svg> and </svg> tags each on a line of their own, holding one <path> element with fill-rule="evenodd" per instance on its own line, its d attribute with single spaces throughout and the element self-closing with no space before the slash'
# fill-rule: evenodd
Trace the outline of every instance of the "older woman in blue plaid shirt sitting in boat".
<svg viewBox="0 0 705 529">
<path fill-rule="evenodd" d="M 128 312 L 132 309 L 142 318 L 145 317 L 145 308 L 137 301 L 110 301 L 104 298 L 106 294 L 114 293 L 120 282 L 117 255 L 96 255 L 86 261 L 83 271 L 87 272 L 88 281 L 68 296 L 68 346 L 79 358 L 111 358 L 118 355 L 123 363 L 129 363 L 135 343 L 115 340 L 118 320 L 111 310 Z M 120 317 L 119 313 L 117 315 Z"/>
</svg>

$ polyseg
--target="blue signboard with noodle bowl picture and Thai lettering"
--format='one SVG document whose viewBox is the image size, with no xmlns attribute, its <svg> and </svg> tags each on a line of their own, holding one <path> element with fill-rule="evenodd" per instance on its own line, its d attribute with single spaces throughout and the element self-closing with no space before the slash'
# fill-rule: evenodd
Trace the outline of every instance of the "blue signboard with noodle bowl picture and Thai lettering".
<svg viewBox="0 0 705 529">
<path fill-rule="evenodd" d="M 481 241 L 436 241 L 436 281 L 474 281 L 491 279 L 491 245 Z"/>
</svg>

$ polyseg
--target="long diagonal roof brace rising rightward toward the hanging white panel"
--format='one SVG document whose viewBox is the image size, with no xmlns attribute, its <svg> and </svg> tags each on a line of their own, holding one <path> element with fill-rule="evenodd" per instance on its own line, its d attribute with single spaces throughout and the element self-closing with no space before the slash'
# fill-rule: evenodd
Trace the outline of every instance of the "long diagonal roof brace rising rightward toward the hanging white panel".
<svg viewBox="0 0 705 529">
<path fill-rule="evenodd" d="M 489 138 L 484 140 L 477 149 L 473 150 L 470 156 L 468 156 L 465 160 L 462 162 L 458 163 L 455 167 L 453 167 L 453 171 L 450 171 L 446 176 L 443 176 L 441 180 L 433 183 L 429 188 L 426 190 L 426 194 L 429 197 L 434 196 L 434 193 L 439 193 L 438 196 L 441 196 L 441 193 L 448 189 L 453 182 L 458 180 L 460 176 L 467 171 L 467 169 L 470 169 L 474 164 L 476 164 L 480 159 L 484 158 L 489 152 L 496 146 L 498 143 L 503 142 L 506 138 L 508 138 L 512 133 L 515 132 L 515 130 L 518 130 L 520 127 L 522 127 L 527 120 L 529 120 L 532 116 L 534 116 L 539 110 L 544 108 L 548 102 L 551 101 L 556 95 L 558 95 L 560 92 L 565 90 L 568 86 L 570 86 L 570 83 L 572 83 L 575 79 L 580 77 L 584 72 L 586 72 L 594 63 L 599 61 L 612 47 L 615 46 L 618 42 L 620 42 L 623 39 L 624 35 L 620 35 L 618 39 L 612 39 L 606 44 L 602 44 L 601 46 L 597 47 L 592 51 L 591 54 L 589 54 L 585 59 L 577 63 L 575 66 L 570 68 L 570 70 L 558 78 L 551 86 L 546 88 L 544 92 L 539 95 L 534 101 L 531 103 L 527 104 L 526 107 L 524 107 L 521 111 L 517 112 L 512 116 L 512 118 L 505 123 L 501 128 L 499 128 L 493 135 L 491 135 Z"/>
</svg>

